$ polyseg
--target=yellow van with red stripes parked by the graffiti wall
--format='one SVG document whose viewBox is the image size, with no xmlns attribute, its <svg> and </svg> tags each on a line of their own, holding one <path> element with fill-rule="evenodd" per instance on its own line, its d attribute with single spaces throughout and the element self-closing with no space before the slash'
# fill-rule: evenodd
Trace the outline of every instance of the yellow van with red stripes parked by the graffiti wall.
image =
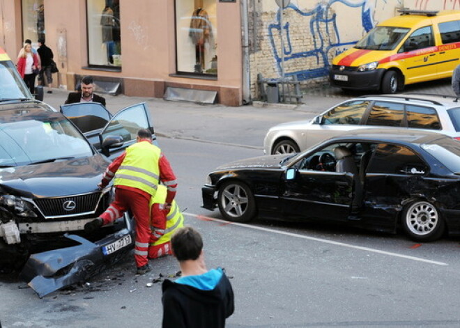
<svg viewBox="0 0 460 328">
<path fill-rule="evenodd" d="M 332 86 L 396 93 L 406 84 L 452 77 L 460 63 L 460 11 L 399 12 L 332 60 Z"/>
</svg>

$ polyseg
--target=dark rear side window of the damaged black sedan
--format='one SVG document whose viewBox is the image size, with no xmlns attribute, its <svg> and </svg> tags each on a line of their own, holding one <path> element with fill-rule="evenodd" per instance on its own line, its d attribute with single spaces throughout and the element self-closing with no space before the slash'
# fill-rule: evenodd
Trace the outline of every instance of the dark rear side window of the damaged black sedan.
<svg viewBox="0 0 460 328">
<path fill-rule="evenodd" d="M 411 149 L 391 143 L 380 143 L 374 150 L 367 172 L 388 174 L 420 174 L 427 164 Z"/>
</svg>

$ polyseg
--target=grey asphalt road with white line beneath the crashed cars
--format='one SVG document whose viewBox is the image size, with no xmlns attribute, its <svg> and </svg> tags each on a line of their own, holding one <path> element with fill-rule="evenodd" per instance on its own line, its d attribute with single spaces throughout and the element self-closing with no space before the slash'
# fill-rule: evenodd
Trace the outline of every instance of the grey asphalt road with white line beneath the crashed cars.
<svg viewBox="0 0 460 328">
<path fill-rule="evenodd" d="M 65 95 L 56 91 L 45 101 L 57 107 Z M 112 111 L 138 100 L 107 97 Z M 268 127 L 312 117 L 339 100 L 312 96 L 307 110 L 146 101 L 178 176 L 186 224 L 203 234 L 208 267 L 222 266 L 231 277 L 236 310 L 227 327 L 460 327 L 458 237 L 415 244 L 402 234 L 343 226 L 231 224 L 217 210 L 200 207 L 208 171 L 261 155 Z M 178 265 L 171 257 L 151 265 L 153 272 L 136 276 L 128 256 L 91 281 L 43 299 L 15 276 L 0 276 L 1 323 L 160 327 L 160 282 L 146 283 L 174 279 Z"/>
</svg>

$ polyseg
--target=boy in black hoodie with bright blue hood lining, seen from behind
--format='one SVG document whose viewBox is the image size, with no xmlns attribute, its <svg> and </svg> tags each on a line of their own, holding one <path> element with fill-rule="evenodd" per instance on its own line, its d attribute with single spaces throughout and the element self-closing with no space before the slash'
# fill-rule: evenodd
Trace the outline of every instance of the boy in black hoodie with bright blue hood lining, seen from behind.
<svg viewBox="0 0 460 328">
<path fill-rule="evenodd" d="M 171 238 L 182 276 L 165 280 L 163 328 L 221 328 L 233 313 L 233 290 L 222 268 L 207 270 L 203 240 L 190 226 L 179 228 Z"/>
</svg>

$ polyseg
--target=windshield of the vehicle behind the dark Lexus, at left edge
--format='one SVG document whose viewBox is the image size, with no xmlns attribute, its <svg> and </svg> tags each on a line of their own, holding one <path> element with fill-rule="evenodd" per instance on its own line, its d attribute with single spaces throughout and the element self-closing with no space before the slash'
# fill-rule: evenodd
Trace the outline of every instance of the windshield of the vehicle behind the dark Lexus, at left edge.
<svg viewBox="0 0 460 328">
<path fill-rule="evenodd" d="M 11 61 L 0 61 L 0 81 L 0 101 L 32 97 Z"/>
</svg>

